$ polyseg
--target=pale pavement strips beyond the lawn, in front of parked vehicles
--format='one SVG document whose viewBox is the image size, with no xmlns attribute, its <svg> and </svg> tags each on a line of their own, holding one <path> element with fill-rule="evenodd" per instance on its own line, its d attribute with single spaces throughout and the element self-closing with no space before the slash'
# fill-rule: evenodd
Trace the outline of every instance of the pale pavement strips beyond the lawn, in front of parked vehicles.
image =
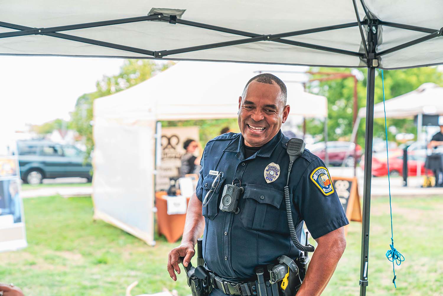
<svg viewBox="0 0 443 296">
<path fill-rule="evenodd" d="M 336 177 L 352 177 L 353 169 L 348 167 L 330 167 L 331 176 Z M 358 191 L 362 197 L 363 192 L 363 170 L 357 168 L 358 178 Z M 54 180 L 43 180 L 44 184 L 57 184 L 57 183 L 82 183 L 85 182 L 83 178 L 59 178 Z M 403 186 L 403 178 L 392 177 L 391 178 L 391 195 L 392 196 L 425 196 L 425 195 L 442 195 L 443 188 L 422 188 L 423 177 L 409 177 L 408 186 Z M 61 195 L 62 197 L 73 196 L 87 196 L 92 194 L 92 186 L 48 186 L 44 188 L 27 189 L 22 191 L 22 197 L 38 197 L 38 196 L 51 196 Z M 389 195 L 388 178 L 378 177 L 372 178 L 371 196 L 387 196 Z"/>
</svg>

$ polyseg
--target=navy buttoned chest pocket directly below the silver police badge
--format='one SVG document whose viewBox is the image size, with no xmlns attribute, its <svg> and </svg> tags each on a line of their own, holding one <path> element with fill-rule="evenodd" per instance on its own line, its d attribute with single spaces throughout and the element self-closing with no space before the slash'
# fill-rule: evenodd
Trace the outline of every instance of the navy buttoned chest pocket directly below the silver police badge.
<svg viewBox="0 0 443 296">
<path fill-rule="evenodd" d="M 245 186 L 243 200 L 240 221 L 246 229 L 276 231 L 281 224 L 279 221 L 285 221 L 283 190 L 248 184 Z"/>
</svg>

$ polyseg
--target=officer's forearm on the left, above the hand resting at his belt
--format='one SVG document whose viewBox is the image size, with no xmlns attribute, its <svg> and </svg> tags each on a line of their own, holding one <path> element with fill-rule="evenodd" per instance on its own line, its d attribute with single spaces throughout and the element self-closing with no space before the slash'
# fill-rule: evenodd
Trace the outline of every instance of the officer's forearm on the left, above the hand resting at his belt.
<svg viewBox="0 0 443 296">
<path fill-rule="evenodd" d="M 195 245 L 205 229 L 205 218 L 202 216 L 202 202 L 194 194 L 188 205 L 182 243 Z"/>
</svg>

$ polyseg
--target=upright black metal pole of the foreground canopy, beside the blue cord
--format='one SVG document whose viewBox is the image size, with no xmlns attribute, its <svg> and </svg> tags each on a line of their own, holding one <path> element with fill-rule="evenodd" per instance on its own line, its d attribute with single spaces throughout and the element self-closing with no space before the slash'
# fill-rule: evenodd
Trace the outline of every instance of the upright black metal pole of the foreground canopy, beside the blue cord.
<svg viewBox="0 0 443 296">
<path fill-rule="evenodd" d="M 365 132 L 365 170 L 363 182 L 363 221 L 361 225 L 361 264 L 360 264 L 360 296 L 366 295 L 368 286 L 369 260 L 369 218 L 371 211 L 371 178 L 372 178 L 372 142 L 374 130 L 374 87 L 378 20 L 371 20 L 368 32 L 368 77 L 366 83 L 366 132 Z"/>
</svg>

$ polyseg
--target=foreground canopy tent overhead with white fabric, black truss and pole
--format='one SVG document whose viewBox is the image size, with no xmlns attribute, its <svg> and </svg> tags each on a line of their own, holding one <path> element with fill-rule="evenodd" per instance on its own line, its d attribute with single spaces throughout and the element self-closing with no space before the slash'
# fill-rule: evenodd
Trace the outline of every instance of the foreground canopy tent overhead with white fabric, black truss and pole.
<svg viewBox="0 0 443 296">
<path fill-rule="evenodd" d="M 442 25 L 435 0 L 8 0 L 0 10 L 0 54 L 367 67 L 369 160 L 375 69 L 442 64 Z M 370 192 L 368 161 L 360 295 L 368 285 Z"/>
</svg>

